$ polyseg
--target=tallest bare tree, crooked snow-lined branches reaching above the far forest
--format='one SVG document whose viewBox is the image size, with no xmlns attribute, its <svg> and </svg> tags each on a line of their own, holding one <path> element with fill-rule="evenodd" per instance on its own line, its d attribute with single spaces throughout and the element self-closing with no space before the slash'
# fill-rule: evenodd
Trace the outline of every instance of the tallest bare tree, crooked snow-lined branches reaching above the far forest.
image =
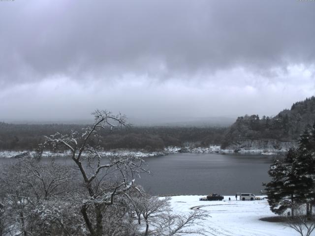
<svg viewBox="0 0 315 236">
<path fill-rule="evenodd" d="M 81 133 L 73 131 L 70 134 L 56 133 L 46 137 L 41 148 L 52 145 L 54 149 L 62 148 L 71 153 L 85 189 L 77 198 L 81 206 L 80 212 L 90 235 L 102 236 L 103 213 L 107 206 L 113 205 L 117 196 L 131 188 L 134 174 L 144 170 L 141 167 L 142 160 L 130 157 L 111 158 L 106 163 L 103 162 L 99 131 L 127 125 L 126 119 L 121 114 L 114 116 L 108 111 L 96 110 L 92 115 L 95 116 L 92 126 L 83 129 Z M 118 173 L 119 177 L 113 177 L 113 173 Z"/>
</svg>

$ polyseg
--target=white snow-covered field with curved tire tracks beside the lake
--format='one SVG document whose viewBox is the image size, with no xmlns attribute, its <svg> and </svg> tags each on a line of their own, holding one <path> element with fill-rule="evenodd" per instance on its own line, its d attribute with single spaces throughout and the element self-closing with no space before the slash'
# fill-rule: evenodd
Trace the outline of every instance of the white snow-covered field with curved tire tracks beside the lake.
<svg viewBox="0 0 315 236">
<path fill-rule="evenodd" d="M 199 201 L 201 197 L 204 196 L 174 196 L 171 204 L 173 211 L 180 214 L 188 213 L 191 208 L 207 211 L 209 217 L 203 221 L 207 236 L 299 235 L 284 223 L 259 220 L 276 216 L 270 211 L 267 200 L 235 201 L 235 196 L 224 196 L 223 201 Z"/>
</svg>

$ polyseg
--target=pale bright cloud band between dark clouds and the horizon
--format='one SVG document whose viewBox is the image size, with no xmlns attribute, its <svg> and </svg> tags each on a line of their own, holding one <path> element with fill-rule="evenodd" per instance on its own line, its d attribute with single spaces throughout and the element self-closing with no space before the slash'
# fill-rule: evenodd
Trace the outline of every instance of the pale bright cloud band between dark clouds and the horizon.
<svg viewBox="0 0 315 236">
<path fill-rule="evenodd" d="M 276 115 L 315 94 L 314 78 L 303 67 L 288 69 L 277 82 L 245 70 L 206 78 L 151 83 L 126 76 L 116 83 L 56 77 L 17 85 L 0 93 L 0 120 L 87 120 L 96 108 L 126 114 L 132 122 L 162 123 L 192 118 Z M 4 102 L 3 102 L 4 101 Z"/>
</svg>

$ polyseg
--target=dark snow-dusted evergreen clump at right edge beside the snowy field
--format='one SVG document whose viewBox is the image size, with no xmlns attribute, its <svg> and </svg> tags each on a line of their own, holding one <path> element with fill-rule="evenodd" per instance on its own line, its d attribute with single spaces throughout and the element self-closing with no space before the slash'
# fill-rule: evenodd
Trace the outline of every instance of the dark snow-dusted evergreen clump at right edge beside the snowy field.
<svg viewBox="0 0 315 236">
<path fill-rule="evenodd" d="M 307 204 L 307 214 L 315 204 L 315 123 L 300 135 L 299 147 L 290 148 L 284 161 L 276 160 L 268 171 L 272 180 L 264 184 L 270 209 L 282 214 L 293 205 Z"/>
</svg>

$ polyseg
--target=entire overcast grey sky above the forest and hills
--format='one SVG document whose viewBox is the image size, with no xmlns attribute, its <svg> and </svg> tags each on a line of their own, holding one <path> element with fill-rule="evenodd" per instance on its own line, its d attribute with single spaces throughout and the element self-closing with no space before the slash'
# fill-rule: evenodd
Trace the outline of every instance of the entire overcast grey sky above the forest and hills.
<svg viewBox="0 0 315 236">
<path fill-rule="evenodd" d="M 315 1 L 0 1 L 0 120 L 276 115 L 315 94 Z"/>
</svg>

